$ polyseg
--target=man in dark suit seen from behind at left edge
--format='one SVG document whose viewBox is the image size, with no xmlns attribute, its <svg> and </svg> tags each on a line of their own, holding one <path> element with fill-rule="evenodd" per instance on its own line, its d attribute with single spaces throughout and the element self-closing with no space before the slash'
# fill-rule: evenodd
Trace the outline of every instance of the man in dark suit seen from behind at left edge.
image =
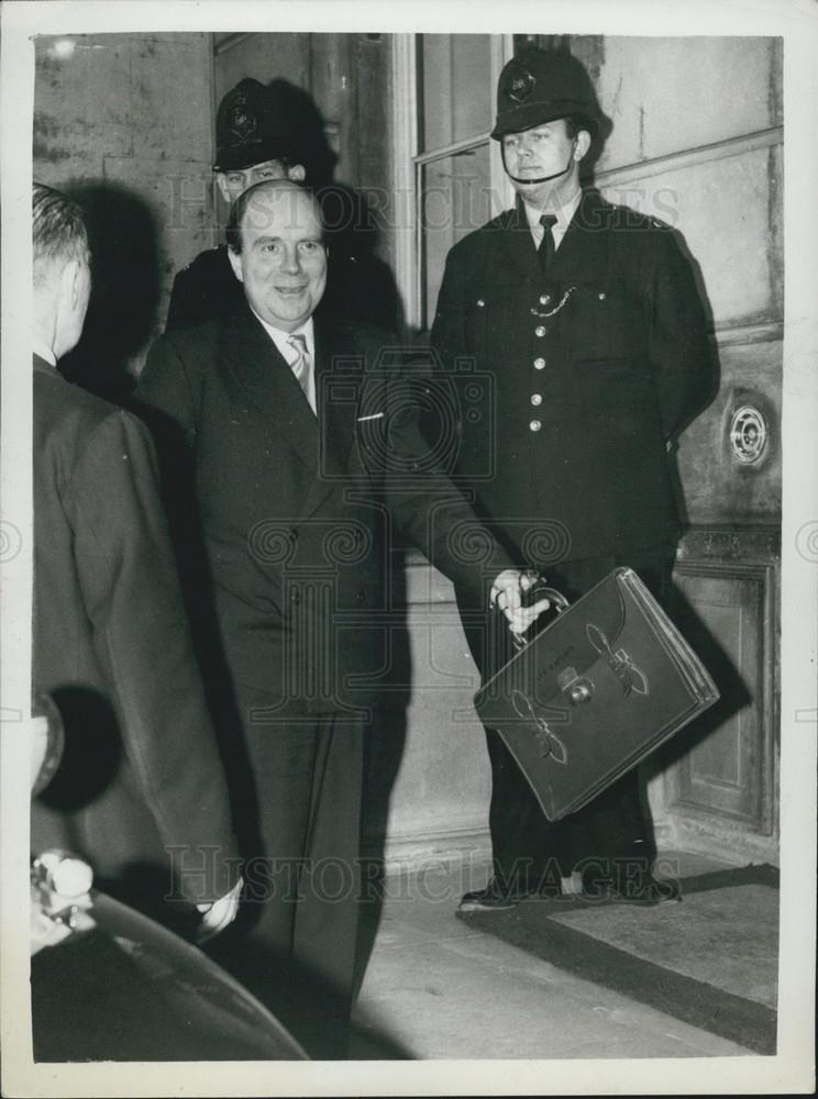
<svg viewBox="0 0 818 1099">
<path fill-rule="evenodd" d="M 155 456 L 135 417 L 57 371 L 89 254 L 79 209 L 38 184 L 33 238 L 33 687 L 65 747 L 32 802 L 32 848 L 76 852 L 100 887 L 204 937 L 234 918 L 241 877 Z"/>
</svg>

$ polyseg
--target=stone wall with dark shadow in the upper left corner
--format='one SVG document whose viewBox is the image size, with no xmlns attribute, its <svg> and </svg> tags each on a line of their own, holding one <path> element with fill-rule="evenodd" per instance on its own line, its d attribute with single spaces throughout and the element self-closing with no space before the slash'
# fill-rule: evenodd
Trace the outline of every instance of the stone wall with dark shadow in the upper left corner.
<svg viewBox="0 0 818 1099">
<path fill-rule="evenodd" d="M 82 202 L 95 253 L 73 363 L 118 396 L 164 328 L 175 271 L 217 237 L 211 36 L 41 36 L 35 51 L 34 178 Z"/>
</svg>

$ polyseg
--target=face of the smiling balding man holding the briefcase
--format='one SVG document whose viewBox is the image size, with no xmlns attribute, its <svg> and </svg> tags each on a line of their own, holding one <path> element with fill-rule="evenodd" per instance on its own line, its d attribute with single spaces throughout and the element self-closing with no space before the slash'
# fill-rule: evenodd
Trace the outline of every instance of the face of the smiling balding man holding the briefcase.
<svg viewBox="0 0 818 1099">
<path fill-rule="evenodd" d="M 274 328 L 295 332 L 316 311 L 327 286 L 327 249 L 308 191 L 262 185 L 241 221 L 241 252 L 229 249 L 247 301 Z"/>
</svg>

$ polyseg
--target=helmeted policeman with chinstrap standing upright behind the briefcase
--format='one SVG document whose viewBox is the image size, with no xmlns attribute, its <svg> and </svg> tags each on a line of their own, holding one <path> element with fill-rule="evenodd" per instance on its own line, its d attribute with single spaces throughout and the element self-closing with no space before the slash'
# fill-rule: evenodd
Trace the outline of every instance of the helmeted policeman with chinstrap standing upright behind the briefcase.
<svg viewBox="0 0 818 1099">
<path fill-rule="evenodd" d="M 491 137 L 517 206 L 450 252 L 431 341 L 447 368 L 467 356 L 490 378 L 495 403 L 464 421 L 458 474 L 505 547 L 571 599 L 620 564 L 661 597 L 677 537 L 667 453 L 706 401 L 710 355 L 674 234 L 581 189 L 598 132 L 574 58 L 529 48 L 508 63 Z M 484 671 L 508 658 L 467 632 Z M 495 874 L 464 910 L 512 907 L 541 887 L 665 896 L 635 771 L 549 825 L 499 735 L 486 736 Z"/>
</svg>

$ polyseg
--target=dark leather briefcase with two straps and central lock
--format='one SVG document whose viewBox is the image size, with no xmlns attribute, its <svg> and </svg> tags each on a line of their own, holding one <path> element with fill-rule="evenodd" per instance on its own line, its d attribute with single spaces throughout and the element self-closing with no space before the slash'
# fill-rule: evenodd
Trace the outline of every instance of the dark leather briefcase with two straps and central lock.
<svg viewBox="0 0 818 1099">
<path fill-rule="evenodd" d="M 550 821 L 576 812 L 718 699 L 699 658 L 631 568 L 559 613 L 475 696 Z"/>
</svg>

